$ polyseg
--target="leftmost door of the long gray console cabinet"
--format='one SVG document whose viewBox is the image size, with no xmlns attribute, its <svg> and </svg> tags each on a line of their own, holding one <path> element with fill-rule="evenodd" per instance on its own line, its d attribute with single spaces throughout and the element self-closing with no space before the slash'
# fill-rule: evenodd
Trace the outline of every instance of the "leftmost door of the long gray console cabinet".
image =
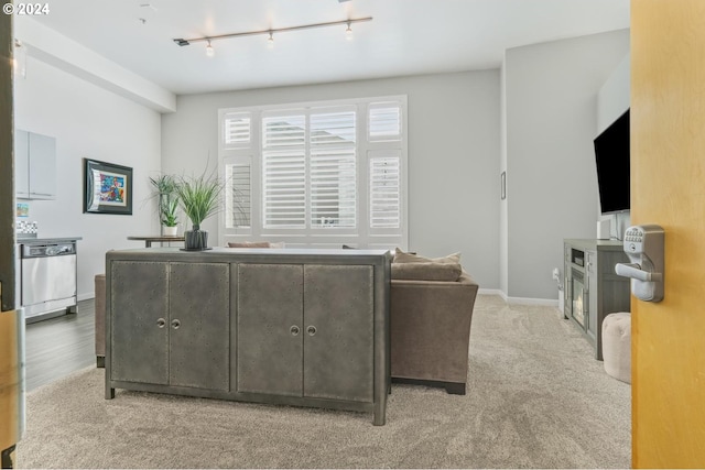
<svg viewBox="0 0 705 470">
<path fill-rule="evenodd" d="M 169 383 L 167 270 L 166 263 L 110 263 L 112 380 Z"/>
</svg>

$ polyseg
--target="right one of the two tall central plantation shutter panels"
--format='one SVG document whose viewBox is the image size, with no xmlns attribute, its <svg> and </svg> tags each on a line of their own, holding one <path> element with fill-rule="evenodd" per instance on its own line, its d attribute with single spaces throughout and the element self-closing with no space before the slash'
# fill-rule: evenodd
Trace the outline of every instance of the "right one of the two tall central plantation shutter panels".
<svg viewBox="0 0 705 470">
<path fill-rule="evenodd" d="M 355 227 L 357 219 L 355 112 L 311 116 L 312 227 Z"/>
</svg>

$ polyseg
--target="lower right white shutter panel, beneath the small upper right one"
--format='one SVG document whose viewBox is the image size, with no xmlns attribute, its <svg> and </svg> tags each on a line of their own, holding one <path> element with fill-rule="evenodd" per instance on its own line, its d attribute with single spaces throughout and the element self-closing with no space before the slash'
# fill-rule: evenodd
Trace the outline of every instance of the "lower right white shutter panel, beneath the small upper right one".
<svg viewBox="0 0 705 470">
<path fill-rule="evenodd" d="M 401 153 L 370 152 L 370 228 L 401 227 Z"/>
</svg>

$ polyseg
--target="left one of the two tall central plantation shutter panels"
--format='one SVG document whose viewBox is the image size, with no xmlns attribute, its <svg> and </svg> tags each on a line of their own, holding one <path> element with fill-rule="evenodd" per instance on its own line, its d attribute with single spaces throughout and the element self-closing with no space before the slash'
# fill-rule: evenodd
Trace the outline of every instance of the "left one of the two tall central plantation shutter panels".
<svg viewBox="0 0 705 470">
<path fill-rule="evenodd" d="M 305 116 L 262 119 L 262 209 L 265 228 L 306 226 Z"/>
</svg>

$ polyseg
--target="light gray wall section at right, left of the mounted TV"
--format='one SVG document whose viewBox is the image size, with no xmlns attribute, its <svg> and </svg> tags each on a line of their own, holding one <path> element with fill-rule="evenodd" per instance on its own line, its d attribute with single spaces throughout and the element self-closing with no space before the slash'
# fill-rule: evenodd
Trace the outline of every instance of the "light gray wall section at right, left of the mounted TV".
<svg viewBox="0 0 705 470">
<path fill-rule="evenodd" d="M 556 299 L 563 239 L 596 236 L 596 95 L 628 51 L 620 30 L 506 52 L 510 298 Z"/>
</svg>

